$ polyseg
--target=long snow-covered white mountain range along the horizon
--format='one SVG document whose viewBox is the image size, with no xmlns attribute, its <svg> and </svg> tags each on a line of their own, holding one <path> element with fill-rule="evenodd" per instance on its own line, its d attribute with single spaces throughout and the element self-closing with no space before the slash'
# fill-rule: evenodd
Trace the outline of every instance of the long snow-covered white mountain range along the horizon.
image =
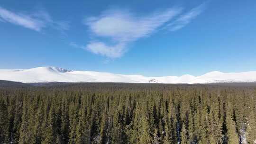
<svg viewBox="0 0 256 144">
<path fill-rule="evenodd" d="M 37 67 L 24 70 L 0 69 L 0 80 L 35 82 L 130 82 L 130 83 L 218 83 L 256 82 L 256 72 L 209 72 L 201 76 L 182 75 L 146 77 L 109 72 L 69 71 L 58 67 Z"/>
</svg>

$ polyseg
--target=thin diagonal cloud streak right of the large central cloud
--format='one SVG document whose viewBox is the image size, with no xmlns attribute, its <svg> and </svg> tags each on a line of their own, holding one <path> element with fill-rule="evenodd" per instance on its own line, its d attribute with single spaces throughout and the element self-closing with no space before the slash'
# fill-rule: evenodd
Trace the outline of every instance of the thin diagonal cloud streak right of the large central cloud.
<svg viewBox="0 0 256 144">
<path fill-rule="evenodd" d="M 198 7 L 191 9 L 189 12 L 179 16 L 174 22 L 171 22 L 165 26 L 170 31 L 176 31 L 191 22 L 192 19 L 196 18 L 205 9 L 206 3 L 202 3 Z"/>
</svg>

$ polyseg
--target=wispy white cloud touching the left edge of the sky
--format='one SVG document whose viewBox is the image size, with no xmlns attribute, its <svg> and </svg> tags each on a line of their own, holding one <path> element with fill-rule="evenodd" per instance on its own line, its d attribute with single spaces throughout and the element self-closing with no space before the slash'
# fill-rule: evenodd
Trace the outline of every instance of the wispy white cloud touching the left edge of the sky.
<svg viewBox="0 0 256 144">
<path fill-rule="evenodd" d="M 53 27 L 61 31 L 68 30 L 69 28 L 68 23 L 64 21 L 53 21 L 45 10 L 39 10 L 31 15 L 27 15 L 0 7 L 0 19 L 1 22 L 9 22 L 35 31 L 41 31 L 45 27 Z"/>
</svg>

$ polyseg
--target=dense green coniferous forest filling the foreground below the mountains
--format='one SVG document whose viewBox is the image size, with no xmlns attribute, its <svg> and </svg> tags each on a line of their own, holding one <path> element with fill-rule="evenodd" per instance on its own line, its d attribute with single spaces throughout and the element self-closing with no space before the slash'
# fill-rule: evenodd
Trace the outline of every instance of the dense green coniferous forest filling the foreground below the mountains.
<svg viewBox="0 0 256 144">
<path fill-rule="evenodd" d="M 256 144 L 256 87 L 0 88 L 0 144 Z"/>
</svg>

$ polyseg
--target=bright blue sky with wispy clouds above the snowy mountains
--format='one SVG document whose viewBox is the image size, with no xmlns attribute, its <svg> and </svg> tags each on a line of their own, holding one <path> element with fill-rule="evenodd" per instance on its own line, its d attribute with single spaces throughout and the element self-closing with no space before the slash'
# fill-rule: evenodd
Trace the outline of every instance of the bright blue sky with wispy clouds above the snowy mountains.
<svg viewBox="0 0 256 144">
<path fill-rule="evenodd" d="M 256 71 L 255 0 L 1 0 L 0 68 Z"/>
</svg>

